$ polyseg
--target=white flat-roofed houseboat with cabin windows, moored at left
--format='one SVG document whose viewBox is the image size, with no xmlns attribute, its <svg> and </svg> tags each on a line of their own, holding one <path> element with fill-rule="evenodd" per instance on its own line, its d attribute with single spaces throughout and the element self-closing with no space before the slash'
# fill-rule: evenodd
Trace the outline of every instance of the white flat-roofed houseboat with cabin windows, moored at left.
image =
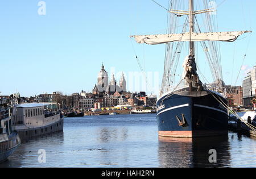
<svg viewBox="0 0 256 179">
<path fill-rule="evenodd" d="M 13 124 L 21 140 L 63 131 L 63 114 L 49 110 L 49 103 L 23 103 L 14 106 Z"/>
</svg>

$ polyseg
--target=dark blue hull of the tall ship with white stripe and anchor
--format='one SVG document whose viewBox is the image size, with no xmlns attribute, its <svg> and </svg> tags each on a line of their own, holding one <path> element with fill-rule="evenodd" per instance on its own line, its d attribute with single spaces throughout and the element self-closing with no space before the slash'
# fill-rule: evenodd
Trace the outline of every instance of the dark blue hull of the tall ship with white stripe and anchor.
<svg viewBox="0 0 256 179">
<path fill-rule="evenodd" d="M 164 95 L 158 107 L 159 136 L 193 138 L 228 134 L 225 98 L 212 91 L 181 91 Z"/>
</svg>

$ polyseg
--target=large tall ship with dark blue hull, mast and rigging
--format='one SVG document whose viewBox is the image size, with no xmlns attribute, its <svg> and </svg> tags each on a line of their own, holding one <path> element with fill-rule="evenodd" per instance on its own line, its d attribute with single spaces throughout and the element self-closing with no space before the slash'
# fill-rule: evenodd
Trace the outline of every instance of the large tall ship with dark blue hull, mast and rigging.
<svg viewBox="0 0 256 179">
<path fill-rule="evenodd" d="M 181 6 L 181 2 L 187 2 L 187 5 Z M 233 42 L 238 36 L 251 31 L 214 31 L 217 27 L 211 13 L 216 9 L 209 7 L 210 3 L 206 0 L 201 2 L 204 10 L 194 10 L 193 0 L 170 1 L 167 34 L 131 36 L 139 44 L 166 44 L 162 89 L 156 102 L 159 136 L 195 138 L 228 134 L 228 102 L 222 81 L 220 48 L 217 45 L 220 45 L 219 41 Z M 207 32 L 202 32 L 197 15 L 205 15 Z M 180 18 L 184 19 L 183 26 L 179 25 Z M 199 78 L 196 42 L 204 49 L 214 85 L 204 85 Z M 184 56 L 183 74 L 177 77 L 181 49 L 186 45 L 188 51 Z"/>
</svg>

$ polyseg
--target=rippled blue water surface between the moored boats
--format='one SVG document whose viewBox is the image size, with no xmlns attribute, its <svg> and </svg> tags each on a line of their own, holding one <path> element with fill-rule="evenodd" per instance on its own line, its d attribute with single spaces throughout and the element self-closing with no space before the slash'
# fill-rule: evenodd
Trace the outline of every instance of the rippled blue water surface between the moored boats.
<svg viewBox="0 0 256 179">
<path fill-rule="evenodd" d="M 46 151 L 46 163 L 38 151 Z M 217 163 L 209 163 L 217 152 Z M 256 139 L 159 138 L 155 114 L 65 118 L 64 131 L 23 143 L 0 167 L 255 167 Z"/>
</svg>

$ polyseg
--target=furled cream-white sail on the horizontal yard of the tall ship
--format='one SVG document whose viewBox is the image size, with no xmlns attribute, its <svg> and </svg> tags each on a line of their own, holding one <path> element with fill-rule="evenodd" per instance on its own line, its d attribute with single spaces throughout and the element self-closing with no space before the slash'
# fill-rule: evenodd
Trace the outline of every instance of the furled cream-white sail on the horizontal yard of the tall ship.
<svg viewBox="0 0 256 179">
<path fill-rule="evenodd" d="M 207 32 L 207 33 L 196 33 L 189 32 L 184 34 L 161 34 L 161 35 L 133 35 L 131 38 L 135 38 L 139 44 L 163 44 L 174 41 L 235 41 L 238 36 L 251 31 L 234 31 L 234 32 Z"/>
</svg>

